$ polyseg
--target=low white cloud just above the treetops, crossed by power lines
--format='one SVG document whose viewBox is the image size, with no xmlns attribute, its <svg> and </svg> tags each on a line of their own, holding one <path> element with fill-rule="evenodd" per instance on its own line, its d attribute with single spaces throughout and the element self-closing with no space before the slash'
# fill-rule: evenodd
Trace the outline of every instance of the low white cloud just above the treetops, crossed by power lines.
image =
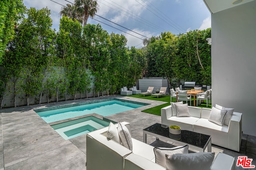
<svg viewBox="0 0 256 170">
<path fill-rule="evenodd" d="M 134 31 L 136 33 L 139 33 L 141 35 L 144 35 L 144 36 L 146 36 L 148 38 L 151 38 L 152 36 L 156 36 L 156 35 L 154 35 L 154 33 L 151 33 L 149 31 L 142 31 L 140 29 L 132 29 L 132 31 Z M 141 35 L 138 35 L 138 34 L 132 32 L 132 31 L 127 31 L 127 33 L 132 34 L 132 35 L 134 35 L 136 37 L 134 37 L 132 35 L 129 35 L 127 33 L 124 33 L 124 36 L 127 39 L 127 46 L 129 46 L 129 47 L 136 46 L 136 48 L 143 47 L 143 44 L 142 44 L 143 40 L 142 39 L 145 39 L 145 37 L 143 37 Z M 138 39 L 137 37 L 139 37 L 141 39 Z"/>
</svg>

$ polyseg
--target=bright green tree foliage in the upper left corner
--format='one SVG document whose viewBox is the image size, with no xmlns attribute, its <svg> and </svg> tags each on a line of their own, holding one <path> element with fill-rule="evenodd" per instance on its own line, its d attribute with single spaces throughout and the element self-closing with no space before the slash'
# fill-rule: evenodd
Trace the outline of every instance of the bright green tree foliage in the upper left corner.
<svg viewBox="0 0 256 170">
<path fill-rule="evenodd" d="M 24 16 L 23 0 L 0 0 L 0 63 L 6 45 L 14 38 L 14 28 Z"/>
</svg>

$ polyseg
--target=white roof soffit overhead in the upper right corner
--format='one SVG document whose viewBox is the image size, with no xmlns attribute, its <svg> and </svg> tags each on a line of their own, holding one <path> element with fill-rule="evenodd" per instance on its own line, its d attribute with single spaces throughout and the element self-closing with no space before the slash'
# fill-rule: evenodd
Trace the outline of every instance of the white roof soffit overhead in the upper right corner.
<svg viewBox="0 0 256 170">
<path fill-rule="evenodd" d="M 242 2 L 233 5 L 232 3 L 235 1 L 238 1 L 238 2 L 242 1 Z M 211 13 L 216 13 L 216 12 L 226 10 L 228 8 L 232 8 L 238 5 L 242 5 L 251 1 L 254 1 L 254 0 L 204 0 L 204 3 L 206 4 L 208 10 Z"/>
</svg>

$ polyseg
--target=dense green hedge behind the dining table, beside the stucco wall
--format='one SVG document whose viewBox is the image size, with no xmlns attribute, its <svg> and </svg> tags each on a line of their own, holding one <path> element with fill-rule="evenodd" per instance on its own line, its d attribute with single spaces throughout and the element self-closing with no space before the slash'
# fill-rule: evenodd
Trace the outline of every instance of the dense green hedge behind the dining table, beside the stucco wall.
<svg viewBox="0 0 256 170">
<path fill-rule="evenodd" d="M 206 38 L 211 29 L 194 30 L 178 36 L 164 32 L 151 38 L 145 48 L 148 67 L 147 77 L 166 77 L 171 87 L 180 81 L 211 84 L 211 46 Z"/>
</svg>

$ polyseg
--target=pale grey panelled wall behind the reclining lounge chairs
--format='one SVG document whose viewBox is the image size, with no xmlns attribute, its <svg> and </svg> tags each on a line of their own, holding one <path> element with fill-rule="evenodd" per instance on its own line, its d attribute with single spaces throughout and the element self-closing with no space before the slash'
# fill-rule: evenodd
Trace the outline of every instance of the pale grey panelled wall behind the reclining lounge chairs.
<svg viewBox="0 0 256 170">
<path fill-rule="evenodd" d="M 149 86 L 154 87 L 153 92 L 155 92 L 157 89 L 160 90 L 161 87 L 167 87 L 166 92 L 170 91 L 168 87 L 167 79 L 160 79 L 160 78 L 139 79 L 139 90 L 141 90 L 141 92 L 146 92 Z"/>
</svg>

